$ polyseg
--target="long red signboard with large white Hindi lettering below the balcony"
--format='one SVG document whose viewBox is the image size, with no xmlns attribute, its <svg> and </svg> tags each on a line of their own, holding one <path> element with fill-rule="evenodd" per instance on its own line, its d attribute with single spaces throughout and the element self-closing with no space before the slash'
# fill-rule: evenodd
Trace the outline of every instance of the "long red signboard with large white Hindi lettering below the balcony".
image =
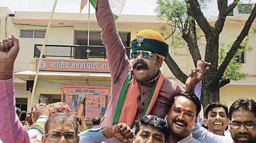
<svg viewBox="0 0 256 143">
<path fill-rule="evenodd" d="M 37 59 L 36 67 L 39 59 Z M 110 72 L 108 61 L 42 59 L 40 71 Z"/>
</svg>

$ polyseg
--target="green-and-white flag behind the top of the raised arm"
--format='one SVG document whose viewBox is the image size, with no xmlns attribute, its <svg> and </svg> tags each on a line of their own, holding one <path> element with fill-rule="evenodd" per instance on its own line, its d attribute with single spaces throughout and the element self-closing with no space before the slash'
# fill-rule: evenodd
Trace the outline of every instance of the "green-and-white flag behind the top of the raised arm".
<svg viewBox="0 0 256 143">
<path fill-rule="evenodd" d="M 89 0 L 93 7 L 96 9 L 97 0 Z M 123 11 L 126 0 L 108 0 L 111 10 L 114 14 L 115 20 L 120 16 Z"/>
</svg>

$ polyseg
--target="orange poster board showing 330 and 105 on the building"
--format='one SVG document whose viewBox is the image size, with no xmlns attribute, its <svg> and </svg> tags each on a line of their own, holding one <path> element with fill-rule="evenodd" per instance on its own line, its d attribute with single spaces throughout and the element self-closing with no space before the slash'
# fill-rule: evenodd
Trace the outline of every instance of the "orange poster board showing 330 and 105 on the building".
<svg viewBox="0 0 256 143">
<path fill-rule="evenodd" d="M 61 101 L 69 105 L 72 115 L 78 115 L 85 99 L 85 118 L 102 117 L 110 94 L 108 86 L 62 86 Z"/>
</svg>

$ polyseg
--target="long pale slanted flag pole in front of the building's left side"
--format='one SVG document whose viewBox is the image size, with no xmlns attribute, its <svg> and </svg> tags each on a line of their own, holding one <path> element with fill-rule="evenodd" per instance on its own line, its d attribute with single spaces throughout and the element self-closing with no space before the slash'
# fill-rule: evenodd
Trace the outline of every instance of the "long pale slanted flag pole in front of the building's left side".
<svg viewBox="0 0 256 143">
<path fill-rule="evenodd" d="M 44 41 L 43 41 L 42 50 L 41 50 L 39 61 L 38 61 L 38 64 L 37 64 L 37 71 L 36 71 L 36 75 L 35 75 L 35 81 L 34 81 L 34 84 L 33 84 L 32 95 L 31 95 L 30 104 L 29 104 L 29 107 L 28 107 L 29 112 L 31 111 L 31 108 L 32 108 L 33 99 L 34 99 L 34 96 L 35 96 L 35 89 L 36 89 L 36 86 L 37 86 L 39 68 L 40 68 L 40 65 L 41 65 L 41 60 L 42 60 L 42 57 L 43 57 L 43 52 L 44 52 L 44 49 L 45 49 L 45 46 L 46 46 L 46 42 L 48 41 L 49 29 L 50 29 L 50 26 L 51 26 L 51 23 L 52 23 L 52 17 L 53 17 L 55 8 L 56 8 L 57 1 L 58 0 L 55 0 L 54 5 L 52 7 L 52 13 L 50 15 L 50 19 L 49 19 L 48 26 L 47 26 L 47 29 L 46 29 L 46 35 L 45 35 L 45 38 L 44 38 Z"/>
</svg>

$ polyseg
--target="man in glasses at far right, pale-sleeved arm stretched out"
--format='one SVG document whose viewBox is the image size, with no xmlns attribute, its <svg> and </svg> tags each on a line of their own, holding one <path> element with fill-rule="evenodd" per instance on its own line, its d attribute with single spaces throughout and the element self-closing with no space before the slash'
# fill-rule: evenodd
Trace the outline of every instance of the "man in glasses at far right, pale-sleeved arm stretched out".
<svg viewBox="0 0 256 143">
<path fill-rule="evenodd" d="M 256 143 L 256 102 L 252 99 L 236 100 L 229 110 L 231 136 L 220 136 L 197 125 L 193 137 L 202 143 Z"/>
</svg>

